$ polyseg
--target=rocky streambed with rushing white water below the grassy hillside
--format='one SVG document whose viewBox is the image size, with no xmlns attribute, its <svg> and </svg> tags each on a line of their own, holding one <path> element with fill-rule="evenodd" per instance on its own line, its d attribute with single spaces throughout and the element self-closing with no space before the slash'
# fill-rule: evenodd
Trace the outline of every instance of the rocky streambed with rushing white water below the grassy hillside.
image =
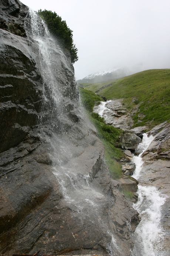
<svg viewBox="0 0 170 256">
<path fill-rule="evenodd" d="M 122 170 L 124 174 L 132 175 L 139 182 L 140 189 L 137 192 L 140 202 L 136 204 L 136 209 L 143 218 L 141 224 L 146 223 L 146 227 L 145 230 L 140 230 L 141 237 L 135 233 L 138 240 L 132 255 L 170 255 L 170 123 L 164 122 L 147 132 L 145 138 L 153 137 L 150 137 L 148 145 L 142 145 L 139 143 L 146 127 L 132 129 L 132 116 L 122 106 L 121 100 L 102 102 L 94 107 L 94 112 L 104 117 L 106 124 L 124 129 L 120 141 L 129 162 L 122 163 Z M 143 151 L 145 147 L 147 149 Z M 140 154 L 136 161 L 133 152 L 136 157 Z"/>
</svg>

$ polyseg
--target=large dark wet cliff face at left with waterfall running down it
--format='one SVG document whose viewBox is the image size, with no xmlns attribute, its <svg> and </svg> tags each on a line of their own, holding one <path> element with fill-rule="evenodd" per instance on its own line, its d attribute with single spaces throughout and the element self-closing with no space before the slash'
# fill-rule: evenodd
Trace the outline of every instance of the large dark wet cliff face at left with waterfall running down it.
<svg viewBox="0 0 170 256">
<path fill-rule="evenodd" d="M 0 1 L 0 252 L 129 255 L 138 213 L 109 177 L 69 54 L 49 35 L 47 69 L 31 15 Z"/>
</svg>

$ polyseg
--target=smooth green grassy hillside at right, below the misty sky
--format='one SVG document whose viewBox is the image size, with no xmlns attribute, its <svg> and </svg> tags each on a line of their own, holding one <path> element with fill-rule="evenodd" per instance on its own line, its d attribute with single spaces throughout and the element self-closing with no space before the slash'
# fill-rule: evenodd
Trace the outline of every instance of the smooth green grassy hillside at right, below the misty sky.
<svg viewBox="0 0 170 256">
<path fill-rule="evenodd" d="M 170 69 L 146 70 L 113 82 L 84 84 L 84 88 L 108 100 L 123 98 L 129 110 L 137 107 L 134 127 L 153 127 L 170 119 Z"/>
</svg>

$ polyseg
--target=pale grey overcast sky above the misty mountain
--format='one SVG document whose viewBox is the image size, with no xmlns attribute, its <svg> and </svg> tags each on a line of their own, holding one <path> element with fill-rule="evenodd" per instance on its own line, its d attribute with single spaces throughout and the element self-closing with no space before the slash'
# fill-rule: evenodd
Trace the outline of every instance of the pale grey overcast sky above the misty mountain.
<svg viewBox="0 0 170 256">
<path fill-rule="evenodd" d="M 73 30 L 77 79 L 116 67 L 170 68 L 170 0 L 22 0 Z"/>
</svg>

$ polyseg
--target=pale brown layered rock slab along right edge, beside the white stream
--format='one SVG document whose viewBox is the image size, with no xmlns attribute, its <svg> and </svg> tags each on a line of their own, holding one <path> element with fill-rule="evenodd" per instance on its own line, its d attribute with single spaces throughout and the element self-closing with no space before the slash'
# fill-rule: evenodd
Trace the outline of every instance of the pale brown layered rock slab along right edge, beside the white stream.
<svg viewBox="0 0 170 256">
<path fill-rule="evenodd" d="M 159 129 L 162 131 L 158 132 Z M 163 249 L 170 253 L 170 123 L 161 124 L 149 133 L 157 134 L 143 153 L 142 158 L 145 163 L 139 182 L 143 186 L 154 185 L 167 196 L 166 203 L 162 206 L 161 224 L 166 232 Z"/>
</svg>

